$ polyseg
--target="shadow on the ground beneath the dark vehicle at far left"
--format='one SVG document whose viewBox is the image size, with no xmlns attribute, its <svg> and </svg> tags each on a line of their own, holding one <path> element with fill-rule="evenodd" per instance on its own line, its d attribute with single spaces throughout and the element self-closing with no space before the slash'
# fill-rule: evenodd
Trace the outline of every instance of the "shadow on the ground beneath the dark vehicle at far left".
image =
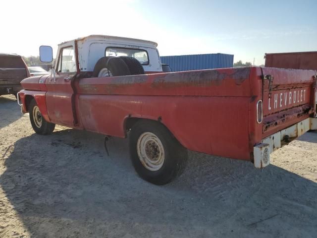
<svg viewBox="0 0 317 238">
<path fill-rule="evenodd" d="M 0 105 L 0 129 L 22 117 L 13 95 L 0 96 Z"/>
</svg>

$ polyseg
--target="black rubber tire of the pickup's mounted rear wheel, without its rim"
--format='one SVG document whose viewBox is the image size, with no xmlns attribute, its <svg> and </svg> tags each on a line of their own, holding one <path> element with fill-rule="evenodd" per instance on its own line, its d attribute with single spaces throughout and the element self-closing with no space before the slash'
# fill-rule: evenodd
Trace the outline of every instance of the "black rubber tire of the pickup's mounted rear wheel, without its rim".
<svg viewBox="0 0 317 238">
<path fill-rule="evenodd" d="M 138 140 L 146 132 L 157 136 L 163 146 L 164 160 L 162 166 L 157 171 L 150 171 L 139 159 L 137 150 Z M 172 181 L 184 171 L 188 157 L 187 149 L 159 122 L 145 120 L 136 122 L 129 133 L 129 145 L 134 169 L 142 179 L 148 182 L 163 185 Z"/>
</svg>

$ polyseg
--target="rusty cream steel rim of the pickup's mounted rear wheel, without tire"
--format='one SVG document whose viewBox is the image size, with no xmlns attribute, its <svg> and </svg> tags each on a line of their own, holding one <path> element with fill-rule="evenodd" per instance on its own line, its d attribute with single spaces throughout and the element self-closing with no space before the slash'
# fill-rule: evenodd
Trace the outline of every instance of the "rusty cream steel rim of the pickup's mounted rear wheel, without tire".
<svg viewBox="0 0 317 238">
<path fill-rule="evenodd" d="M 144 132 L 138 139 L 137 152 L 142 165 L 150 171 L 158 171 L 164 163 L 165 154 L 159 137 Z"/>
</svg>

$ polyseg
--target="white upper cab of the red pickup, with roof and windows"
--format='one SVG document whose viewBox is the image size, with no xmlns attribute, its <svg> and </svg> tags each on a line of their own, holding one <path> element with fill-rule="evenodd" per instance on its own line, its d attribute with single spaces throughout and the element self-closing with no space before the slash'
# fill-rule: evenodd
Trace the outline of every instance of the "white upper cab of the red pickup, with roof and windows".
<svg viewBox="0 0 317 238">
<path fill-rule="evenodd" d="M 139 39 L 91 35 L 58 45 L 54 71 L 72 75 L 73 72 L 93 72 L 103 57 L 133 57 L 146 73 L 162 72 L 157 43 Z M 49 49 L 45 49 L 49 52 Z M 48 57 L 51 58 L 50 56 Z"/>
</svg>

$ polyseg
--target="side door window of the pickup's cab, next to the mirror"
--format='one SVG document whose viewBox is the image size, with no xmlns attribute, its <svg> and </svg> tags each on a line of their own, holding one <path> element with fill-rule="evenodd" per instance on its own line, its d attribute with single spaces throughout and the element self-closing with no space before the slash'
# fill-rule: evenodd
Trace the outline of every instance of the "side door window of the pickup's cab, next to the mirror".
<svg viewBox="0 0 317 238">
<path fill-rule="evenodd" d="M 76 60 L 74 48 L 72 46 L 62 48 L 61 54 L 58 59 L 57 72 L 76 72 Z"/>
</svg>

